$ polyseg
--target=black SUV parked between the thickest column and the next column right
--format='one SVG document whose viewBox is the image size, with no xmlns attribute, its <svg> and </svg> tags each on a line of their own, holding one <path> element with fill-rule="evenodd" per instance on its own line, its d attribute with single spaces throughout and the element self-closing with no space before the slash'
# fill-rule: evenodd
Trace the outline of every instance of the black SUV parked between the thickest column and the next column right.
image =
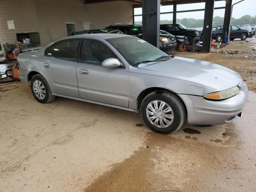
<svg viewBox="0 0 256 192">
<path fill-rule="evenodd" d="M 192 43 L 193 38 L 199 37 L 200 32 L 196 29 L 186 28 L 182 24 L 160 24 L 160 30 L 169 32 L 172 35 L 187 36 L 188 41 Z"/>
</svg>

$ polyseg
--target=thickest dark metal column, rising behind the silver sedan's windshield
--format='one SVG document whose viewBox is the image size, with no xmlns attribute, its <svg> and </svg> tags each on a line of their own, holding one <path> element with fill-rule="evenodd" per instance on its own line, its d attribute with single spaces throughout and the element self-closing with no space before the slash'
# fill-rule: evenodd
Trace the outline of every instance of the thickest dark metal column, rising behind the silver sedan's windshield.
<svg viewBox="0 0 256 192">
<path fill-rule="evenodd" d="M 159 48 L 160 0 L 142 0 L 142 38 Z"/>
</svg>

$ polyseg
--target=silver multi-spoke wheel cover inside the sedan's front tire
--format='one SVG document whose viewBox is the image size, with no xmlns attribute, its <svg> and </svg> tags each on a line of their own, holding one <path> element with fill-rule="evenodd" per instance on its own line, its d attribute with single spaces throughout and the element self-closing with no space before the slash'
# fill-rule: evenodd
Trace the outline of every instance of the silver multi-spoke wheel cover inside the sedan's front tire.
<svg viewBox="0 0 256 192">
<path fill-rule="evenodd" d="M 166 128 L 174 120 L 172 108 L 166 102 L 160 100 L 154 100 L 148 104 L 146 116 L 148 121 L 158 128 Z"/>
</svg>

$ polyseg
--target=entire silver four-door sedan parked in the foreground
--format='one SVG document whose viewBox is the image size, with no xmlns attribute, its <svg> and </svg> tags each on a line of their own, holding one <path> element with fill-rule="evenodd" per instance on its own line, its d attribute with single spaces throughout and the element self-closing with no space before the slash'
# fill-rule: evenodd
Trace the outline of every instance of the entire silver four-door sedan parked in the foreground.
<svg viewBox="0 0 256 192">
<path fill-rule="evenodd" d="M 248 89 L 224 66 L 165 54 L 139 38 L 85 34 L 18 56 L 20 80 L 36 100 L 56 96 L 139 112 L 152 130 L 216 125 L 242 115 Z"/>
</svg>

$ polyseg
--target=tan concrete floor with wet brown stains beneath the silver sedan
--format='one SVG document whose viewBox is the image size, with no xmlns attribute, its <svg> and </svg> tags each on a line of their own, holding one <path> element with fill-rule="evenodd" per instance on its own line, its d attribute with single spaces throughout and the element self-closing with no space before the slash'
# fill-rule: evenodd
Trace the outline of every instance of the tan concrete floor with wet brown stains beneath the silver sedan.
<svg viewBox="0 0 256 192">
<path fill-rule="evenodd" d="M 254 192 L 256 93 L 222 126 L 157 134 L 140 114 L 0 92 L 0 192 Z M 3 86 L 3 85 L 1 85 Z"/>
</svg>

